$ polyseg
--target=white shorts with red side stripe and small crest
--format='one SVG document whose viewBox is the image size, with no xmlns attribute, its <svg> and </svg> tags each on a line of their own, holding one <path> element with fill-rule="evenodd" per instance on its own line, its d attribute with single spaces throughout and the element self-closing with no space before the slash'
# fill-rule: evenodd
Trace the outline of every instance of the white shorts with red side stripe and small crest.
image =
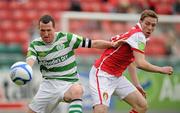
<svg viewBox="0 0 180 113">
<path fill-rule="evenodd" d="M 112 94 L 123 99 L 136 90 L 125 76 L 115 77 L 94 66 L 90 71 L 89 84 L 93 106 L 97 104 L 109 106 Z"/>
</svg>

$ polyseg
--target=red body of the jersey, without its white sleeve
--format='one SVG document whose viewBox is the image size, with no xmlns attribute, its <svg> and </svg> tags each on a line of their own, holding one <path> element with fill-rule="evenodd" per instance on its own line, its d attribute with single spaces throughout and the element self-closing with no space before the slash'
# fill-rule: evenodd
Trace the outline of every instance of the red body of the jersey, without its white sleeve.
<svg viewBox="0 0 180 113">
<path fill-rule="evenodd" d="M 129 32 L 112 37 L 111 41 L 128 40 L 128 38 L 132 38 L 133 35 L 139 32 L 142 34 L 140 27 L 136 25 Z M 134 48 L 128 43 L 122 44 L 119 48 L 106 49 L 94 65 L 96 68 L 119 77 L 127 66 L 134 61 L 133 50 Z"/>
</svg>

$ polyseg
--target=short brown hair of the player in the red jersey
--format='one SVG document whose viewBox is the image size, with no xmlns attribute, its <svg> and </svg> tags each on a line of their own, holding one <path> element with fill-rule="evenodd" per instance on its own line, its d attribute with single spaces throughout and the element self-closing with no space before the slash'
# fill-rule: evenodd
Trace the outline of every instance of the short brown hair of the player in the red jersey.
<svg viewBox="0 0 180 113">
<path fill-rule="evenodd" d="M 158 21 L 158 16 L 157 16 L 157 14 L 156 14 L 153 10 L 149 10 L 149 9 L 144 10 L 144 11 L 141 13 L 140 20 L 143 21 L 144 18 L 146 18 L 146 17 L 156 18 L 157 21 Z"/>
</svg>

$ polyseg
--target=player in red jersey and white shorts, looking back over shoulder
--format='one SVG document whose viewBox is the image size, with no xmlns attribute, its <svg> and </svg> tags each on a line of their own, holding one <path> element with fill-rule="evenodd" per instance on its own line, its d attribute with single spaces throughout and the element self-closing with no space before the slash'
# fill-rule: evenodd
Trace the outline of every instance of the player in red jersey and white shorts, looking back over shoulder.
<svg viewBox="0 0 180 113">
<path fill-rule="evenodd" d="M 122 75 L 132 63 L 149 72 L 171 75 L 171 66 L 159 67 L 145 60 L 146 39 L 158 23 L 158 16 L 152 10 L 144 10 L 139 22 L 128 32 L 111 38 L 119 41 L 118 48 L 109 48 L 97 59 L 90 71 L 90 90 L 93 99 L 93 113 L 107 113 L 113 94 L 133 107 L 131 113 L 145 113 L 147 101 L 138 88 Z"/>
</svg>

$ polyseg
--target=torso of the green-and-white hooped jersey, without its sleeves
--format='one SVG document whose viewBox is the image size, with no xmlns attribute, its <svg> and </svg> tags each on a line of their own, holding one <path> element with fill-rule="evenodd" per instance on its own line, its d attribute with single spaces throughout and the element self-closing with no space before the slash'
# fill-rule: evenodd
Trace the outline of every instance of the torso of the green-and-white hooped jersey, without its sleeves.
<svg viewBox="0 0 180 113">
<path fill-rule="evenodd" d="M 77 64 L 75 61 L 75 45 L 72 40 L 68 40 L 67 34 L 57 33 L 52 44 L 43 44 L 42 40 L 36 40 L 34 50 L 37 53 L 37 60 L 43 76 L 74 76 L 77 74 Z"/>
</svg>

